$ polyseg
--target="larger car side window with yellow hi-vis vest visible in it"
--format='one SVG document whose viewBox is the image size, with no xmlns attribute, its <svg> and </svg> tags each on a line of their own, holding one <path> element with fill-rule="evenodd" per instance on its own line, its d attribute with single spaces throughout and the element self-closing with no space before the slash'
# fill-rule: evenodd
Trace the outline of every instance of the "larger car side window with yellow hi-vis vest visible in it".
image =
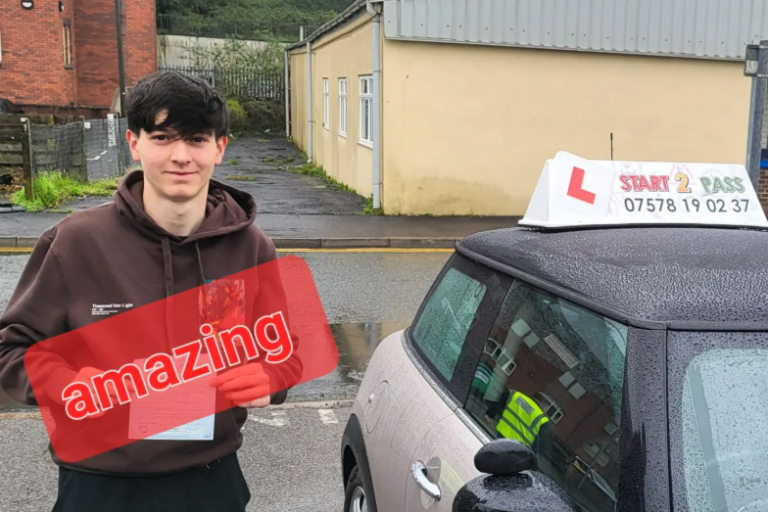
<svg viewBox="0 0 768 512">
<path fill-rule="evenodd" d="M 618 493 L 627 327 L 526 284 L 504 299 L 465 404 L 589 512 Z"/>
</svg>

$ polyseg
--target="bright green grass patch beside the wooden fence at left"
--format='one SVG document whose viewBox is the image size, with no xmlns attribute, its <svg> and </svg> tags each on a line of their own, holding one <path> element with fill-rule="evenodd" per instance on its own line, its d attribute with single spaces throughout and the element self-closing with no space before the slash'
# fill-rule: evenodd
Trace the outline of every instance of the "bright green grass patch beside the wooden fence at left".
<svg viewBox="0 0 768 512">
<path fill-rule="evenodd" d="M 41 173 L 35 178 L 35 197 L 27 199 L 24 190 L 18 190 L 11 198 L 13 204 L 23 206 L 28 212 L 56 209 L 73 197 L 108 197 L 117 190 L 120 178 L 108 178 L 91 183 L 79 182 L 61 172 Z M 66 211 L 66 210 L 62 210 Z"/>
</svg>

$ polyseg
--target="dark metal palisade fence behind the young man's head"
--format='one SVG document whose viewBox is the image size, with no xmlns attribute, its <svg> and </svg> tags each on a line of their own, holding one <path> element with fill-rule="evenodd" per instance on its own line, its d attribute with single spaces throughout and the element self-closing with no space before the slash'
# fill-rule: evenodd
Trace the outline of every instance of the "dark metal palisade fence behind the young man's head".
<svg viewBox="0 0 768 512">
<path fill-rule="evenodd" d="M 227 98 L 267 99 L 285 101 L 285 74 L 283 71 L 267 72 L 256 68 L 201 69 L 186 66 L 163 66 L 158 71 L 178 71 L 205 78 Z"/>
</svg>

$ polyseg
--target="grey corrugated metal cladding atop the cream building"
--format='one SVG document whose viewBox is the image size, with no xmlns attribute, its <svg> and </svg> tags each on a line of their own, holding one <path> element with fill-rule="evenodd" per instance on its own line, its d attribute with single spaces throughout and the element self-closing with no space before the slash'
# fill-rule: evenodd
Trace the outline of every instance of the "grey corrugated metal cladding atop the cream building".
<svg viewBox="0 0 768 512">
<path fill-rule="evenodd" d="M 388 38 L 742 60 L 768 0 L 385 0 Z"/>
</svg>

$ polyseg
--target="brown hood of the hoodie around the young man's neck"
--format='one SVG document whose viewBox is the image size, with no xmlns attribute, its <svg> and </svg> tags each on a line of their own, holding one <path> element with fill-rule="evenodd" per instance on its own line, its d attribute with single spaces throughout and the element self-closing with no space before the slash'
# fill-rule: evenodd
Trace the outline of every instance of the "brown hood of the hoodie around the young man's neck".
<svg viewBox="0 0 768 512">
<path fill-rule="evenodd" d="M 144 171 L 133 171 L 120 182 L 114 194 L 120 215 L 147 236 L 154 236 L 158 240 L 162 237 L 178 240 L 178 237 L 161 228 L 147 215 L 144 211 L 143 194 Z M 256 201 L 251 194 L 212 179 L 208 186 L 203 223 L 184 243 L 239 231 L 253 224 L 254 220 Z"/>
</svg>

